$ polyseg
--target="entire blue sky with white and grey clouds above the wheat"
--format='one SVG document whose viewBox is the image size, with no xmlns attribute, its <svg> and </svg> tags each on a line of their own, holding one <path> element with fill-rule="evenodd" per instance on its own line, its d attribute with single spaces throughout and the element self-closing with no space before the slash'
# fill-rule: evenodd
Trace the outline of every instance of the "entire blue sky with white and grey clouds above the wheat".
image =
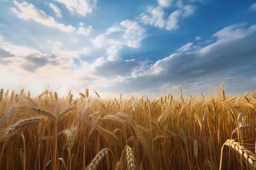
<svg viewBox="0 0 256 170">
<path fill-rule="evenodd" d="M 0 11 L 1 88 L 256 90 L 255 0 L 0 0 Z"/>
</svg>

